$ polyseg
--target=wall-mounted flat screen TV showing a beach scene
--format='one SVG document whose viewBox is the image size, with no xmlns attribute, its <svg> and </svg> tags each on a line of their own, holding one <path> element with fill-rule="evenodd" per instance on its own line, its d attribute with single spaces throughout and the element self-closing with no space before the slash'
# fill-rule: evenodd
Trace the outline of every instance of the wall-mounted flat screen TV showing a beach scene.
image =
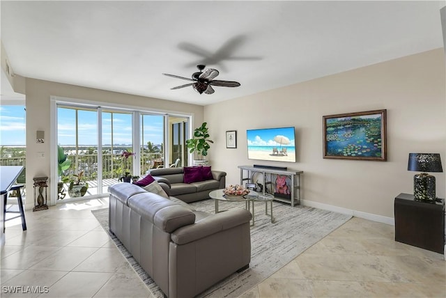
<svg viewBox="0 0 446 298">
<path fill-rule="evenodd" d="M 294 127 L 247 130 L 248 159 L 295 162 Z"/>
</svg>

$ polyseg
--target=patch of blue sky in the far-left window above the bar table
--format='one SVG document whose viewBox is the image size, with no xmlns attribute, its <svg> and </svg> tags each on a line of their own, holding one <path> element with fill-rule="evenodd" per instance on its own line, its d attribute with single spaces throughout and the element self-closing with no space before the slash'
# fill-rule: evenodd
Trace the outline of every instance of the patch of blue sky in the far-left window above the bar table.
<svg viewBox="0 0 446 298">
<path fill-rule="evenodd" d="M 24 106 L 0 106 L 0 145 L 24 146 L 25 136 Z"/>
</svg>

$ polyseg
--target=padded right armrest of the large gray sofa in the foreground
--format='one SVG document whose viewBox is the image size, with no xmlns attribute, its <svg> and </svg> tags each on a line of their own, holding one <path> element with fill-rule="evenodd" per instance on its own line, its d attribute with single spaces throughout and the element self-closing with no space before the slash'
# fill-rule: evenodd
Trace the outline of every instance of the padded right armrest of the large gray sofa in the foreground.
<svg viewBox="0 0 446 298">
<path fill-rule="evenodd" d="M 179 245 L 186 244 L 219 233 L 222 230 L 249 224 L 251 218 L 251 213 L 242 208 L 212 214 L 195 224 L 178 228 L 171 233 L 171 240 Z"/>
</svg>

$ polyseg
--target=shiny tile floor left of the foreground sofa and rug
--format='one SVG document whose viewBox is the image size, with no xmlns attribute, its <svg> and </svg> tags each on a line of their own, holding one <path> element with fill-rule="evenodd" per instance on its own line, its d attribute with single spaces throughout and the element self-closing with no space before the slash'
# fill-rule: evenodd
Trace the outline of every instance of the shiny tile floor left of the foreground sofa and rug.
<svg viewBox="0 0 446 298">
<path fill-rule="evenodd" d="M 152 297 L 91 213 L 107 206 L 103 198 L 26 211 L 26 232 L 20 219 L 6 221 L 0 296 Z"/>
</svg>

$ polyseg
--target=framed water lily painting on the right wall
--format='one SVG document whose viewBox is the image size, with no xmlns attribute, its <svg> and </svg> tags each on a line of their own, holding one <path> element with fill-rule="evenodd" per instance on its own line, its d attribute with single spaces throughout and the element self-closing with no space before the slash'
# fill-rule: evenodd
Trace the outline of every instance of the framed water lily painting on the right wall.
<svg viewBox="0 0 446 298">
<path fill-rule="evenodd" d="M 385 162 L 386 111 L 323 116 L 323 158 Z"/>
</svg>

